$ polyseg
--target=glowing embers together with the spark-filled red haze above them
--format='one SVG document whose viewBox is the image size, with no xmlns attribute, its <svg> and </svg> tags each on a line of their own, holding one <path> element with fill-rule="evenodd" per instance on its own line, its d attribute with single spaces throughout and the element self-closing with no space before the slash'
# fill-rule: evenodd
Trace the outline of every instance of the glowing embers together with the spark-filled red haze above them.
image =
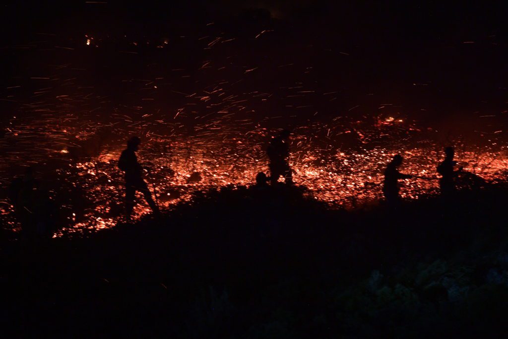
<svg viewBox="0 0 508 339">
<path fill-rule="evenodd" d="M 436 194 L 435 168 L 451 144 L 464 170 L 505 179 L 505 89 L 497 83 L 479 88 L 478 97 L 448 93 L 460 103 L 453 106 L 440 93 L 449 83 L 423 81 L 426 70 L 390 86 L 385 73 L 359 85 L 369 72 L 368 51 L 309 47 L 313 38 L 304 35 L 279 46 L 288 33 L 277 25 L 242 34 L 216 26 L 157 38 L 41 32 L 4 47 L 19 65 L 0 92 L 4 228 L 18 230 L 6 192 L 28 165 L 61 206 L 55 236 L 114 227 L 123 194 L 116 161 L 131 135 L 143 139 L 138 158 L 165 208 L 196 192 L 252 184 L 267 171 L 265 147 L 282 128 L 294 133 L 296 184 L 331 208 L 379 201 L 395 153 L 404 155 L 401 171 L 425 177 L 403 182 L 407 199 Z M 495 48 L 505 47 L 490 42 L 456 41 L 440 57 L 497 60 L 504 49 Z M 138 201 L 136 218 L 149 212 Z"/>
</svg>

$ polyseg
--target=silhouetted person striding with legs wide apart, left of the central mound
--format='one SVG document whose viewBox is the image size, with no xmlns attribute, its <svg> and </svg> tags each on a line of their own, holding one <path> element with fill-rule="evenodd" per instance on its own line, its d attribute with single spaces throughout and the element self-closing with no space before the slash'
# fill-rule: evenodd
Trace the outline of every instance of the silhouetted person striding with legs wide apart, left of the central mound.
<svg viewBox="0 0 508 339">
<path fill-rule="evenodd" d="M 134 209 L 136 191 L 143 193 L 146 202 L 154 213 L 159 212 L 158 206 L 153 201 L 152 194 L 148 190 L 145 180 L 143 180 L 143 167 L 138 163 L 136 157 L 136 151 L 139 149 L 140 143 L 141 139 L 138 137 L 129 139 L 127 149 L 122 152 L 118 161 L 118 167 L 125 172 L 125 213 L 127 219 L 131 218 Z"/>
</svg>

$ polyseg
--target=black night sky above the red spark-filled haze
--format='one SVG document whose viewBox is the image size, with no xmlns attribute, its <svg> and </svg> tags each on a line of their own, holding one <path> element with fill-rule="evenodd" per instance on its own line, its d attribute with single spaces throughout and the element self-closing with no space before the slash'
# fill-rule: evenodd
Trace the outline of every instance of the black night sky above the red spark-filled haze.
<svg viewBox="0 0 508 339">
<path fill-rule="evenodd" d="M 85 34 L 174 44 L 209 35 L 213 22 L 213 34 L 239 39 L 253 59 L 307 61 L 322 73 L 319 81 L 352 91 L 344 101 L 374 91 L 388 102 L 426 101 L 438 115 L 471 105 L 478 111 L 482 101 L 499 110 L 508 87 L 505 13 L 502 2 L 9 2 L 2 11 L 4 79 L 29 63 L 9 47 L 40 40 L 37 33 L 73 48 Z M 249 46 L 265 29 L 265 45 Z M 198 46 L 180 48 L 196 65 L 208 57 Z M 413 93 L 411 84 L 428 93 Z"/>
</svg>

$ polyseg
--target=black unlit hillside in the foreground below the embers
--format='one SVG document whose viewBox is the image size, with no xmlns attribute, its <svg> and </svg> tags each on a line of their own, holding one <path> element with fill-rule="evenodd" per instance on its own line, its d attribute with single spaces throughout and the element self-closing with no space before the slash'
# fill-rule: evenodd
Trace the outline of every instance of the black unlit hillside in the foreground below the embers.
<svg viewBox="0 0 508 339">
<path fill-rule="evenodd" d="M 224 189 L 161 220 L 2 248 L 6 337 L 499 337 L 508 190 L 332 211 Z"/>
</svg>

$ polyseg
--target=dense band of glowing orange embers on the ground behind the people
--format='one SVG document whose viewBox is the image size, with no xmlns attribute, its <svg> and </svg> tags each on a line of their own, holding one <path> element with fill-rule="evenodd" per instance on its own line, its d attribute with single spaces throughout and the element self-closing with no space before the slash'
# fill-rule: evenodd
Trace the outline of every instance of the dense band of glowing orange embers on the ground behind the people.
<svg viewBox="0 0 508 339">
<path fill-rule="evenodd" d="M 409 136 L 409 128 L 403 122 L 386 124 L 370 129 L 356 127 L 355 130 L 338 123 L 335 126 L 316 123 L 311 128 L 296 128 L 290 160 L 295 182 L 307 187 L 308 194 L 328 202 L 331 207 L 354 208 L 373 203 L 382 198 L 384 167 L 395 153 L 400 152 L 405 157 L 404 172 L 426 177 L 405 180 L 402 196 L 418 199 L 422 195 L 435 194 L 438 189 L 435 167 L 441 147 L 426 140 L 415 141 L 428 132 L 414 132 L 414 136 Z M 67 133 L 73 131 L 70 126 L 65 129 Z M 28 128 L 16 131 L 17 136 L 8 135 L 5 140 L 18 145 L 25 143 L 27 147 L 24 152 L 10 153 L 12 161 L 4 162 L 2 167 L 4 180 L 8 182 L 9 166 L 33 165 L 41 186 L 50 190 L 66 215 L 67 220 L 63 220 L 66 227 L 59 234 L 109 228 L 121 220 L 122 173 L 116 167 L 124 148 L 120 141 L 100 147 L 84 141 L 81 147 L 74 147 L 67 141 L 66 133 L 60 132 L 40 136 L 46 144 L 30 145 L 31 138 L 35 138 L 30 135 L 33 131 Z M 310 131 L 314 131 L 314 137 L 309 136 Z M 350 133 L 346 133 L 348 131 Z M 149 170 L 146 180 L 155 190 L 158 202 L 166 208 L 192 199 L 196 191 L 206 192 L 231 185 L 248 186 L 259 171 L 267 171 L 264 147 L 272 134 L 268 129 L 259 127 L 233 132 L 224 126 L 215 133 L 203 132 L 195 137 L 154 135 L 148 131 L 138 134 L 146 140 L 139 152 L 139 159 Z M 361 134 L 370 141 L 358 142 L 354 147 L 337 143 L 351 134 L 354 134 L 353 140 L 360 139 Z M 84 140 L 94 139 L 92 136 L 92 139 Z M 389 146 L 381 147 L 380 143 Z M 94 149 L 97 155 L 70 156 Z M 505 178 L 508 164 L 505 146 L 463 146 L 458 149 L 457 159 L 466 171 L 488 181 Z M 135 209 L 137 218 L 149 212 L 141 197 L 139 202 Z M 9 220 L 9 227 L 16 229 L 16 223 L 10 219 L 10 203 L 5 199 L 2 203 L 3 217 Z"/>
</svg>

